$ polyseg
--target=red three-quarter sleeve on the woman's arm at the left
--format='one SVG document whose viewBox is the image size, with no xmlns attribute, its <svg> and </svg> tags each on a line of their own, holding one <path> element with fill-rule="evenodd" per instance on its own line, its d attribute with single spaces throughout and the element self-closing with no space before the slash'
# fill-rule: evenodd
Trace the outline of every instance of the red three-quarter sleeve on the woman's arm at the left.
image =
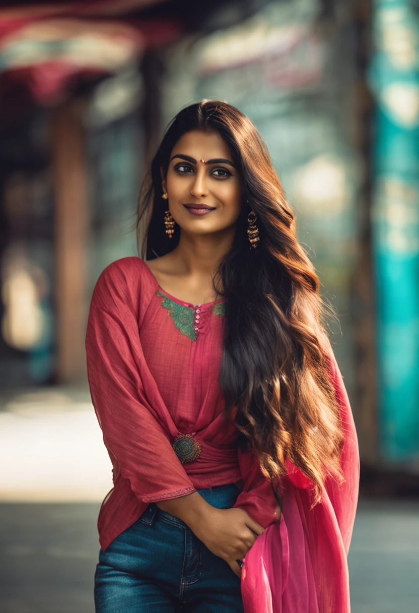
<svg viewBox="0 0 419 613">
<path fill-rule="evenodd" d="M 145 394 L 137 307 L 124 275 L 105 269 L 92 297 L 86 357 L 109 455 L 138 500 L 151 502 L 181 497 L 195 487 Z"/>
</svg>

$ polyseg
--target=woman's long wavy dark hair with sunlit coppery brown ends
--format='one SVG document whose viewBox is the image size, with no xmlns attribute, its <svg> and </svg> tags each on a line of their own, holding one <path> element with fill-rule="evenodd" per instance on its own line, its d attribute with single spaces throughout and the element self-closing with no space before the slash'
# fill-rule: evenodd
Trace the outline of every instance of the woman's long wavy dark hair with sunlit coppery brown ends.
<svg viewBox="0 0 419 613">
<path fill-rule="evenodd" d="M 315 504 L 328 476 L 343 481 L 343 433 L 330 374 L 325 303 L 314 266 L 296 239 L 295 216 L 265 142 L 232 105 L 205 100 L 181 110 L 169 124 L 140 192 L 140 255 L 151 260 L 178 245 L 177 224 L 172 239 L 165 234 L 160 167 L 166 175 L 173 147 L 192 130 L 221 135 L 243 186 L 233 246 L 213 280 L 225 299 L 219 373 L 224 417 L 233 419 L 242 451 L 255 452 L 277 491 L 289 458 L 311 479 Z M 251 210 L 260 234 L 256 249 L 246 233 Z"/>
</svg>

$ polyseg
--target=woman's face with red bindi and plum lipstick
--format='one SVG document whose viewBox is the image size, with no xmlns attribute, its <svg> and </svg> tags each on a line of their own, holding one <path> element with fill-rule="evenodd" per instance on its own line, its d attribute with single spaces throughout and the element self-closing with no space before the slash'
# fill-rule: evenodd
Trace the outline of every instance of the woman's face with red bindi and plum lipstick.
<svg viewBox="0 0 419 613">
<path fill-rule="evenodd" d="M 162 186 L 173 219 L 191 234 L 220 232 L 234 226 L 240 215 L 241 179 L 217 132 L 184 134 L 170 153 Z"/>
</svg>

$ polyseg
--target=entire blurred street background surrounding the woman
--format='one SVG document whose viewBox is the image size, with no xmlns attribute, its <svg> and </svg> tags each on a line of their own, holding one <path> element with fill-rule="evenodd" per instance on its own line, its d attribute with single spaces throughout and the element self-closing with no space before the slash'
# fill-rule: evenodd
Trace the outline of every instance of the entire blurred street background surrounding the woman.
<svg viewBox="0 0 419 613">
<path fill-rule="evenodd" d="M 203 98 L 262 132 L 295 208 L 357 425 L 353 613 L 417 611 L 419 5 L 100 0 L 0 8 L 0 611 L 92 613 L 111 465 L 89 300 L 137 255 L 138 191 Z"/>
</svg>

